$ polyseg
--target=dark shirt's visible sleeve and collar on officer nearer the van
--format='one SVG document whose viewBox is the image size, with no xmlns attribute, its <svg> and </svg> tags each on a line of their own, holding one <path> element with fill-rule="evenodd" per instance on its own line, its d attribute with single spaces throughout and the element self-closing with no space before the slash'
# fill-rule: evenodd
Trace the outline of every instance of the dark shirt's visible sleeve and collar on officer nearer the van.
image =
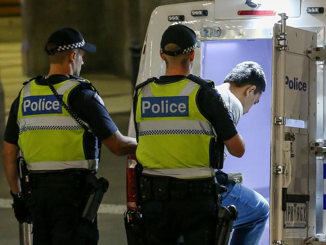
<svg viewBox="0 0 326 245">
<path fill-rule="evenodd" d="M 155 82 L 167 84 L 186 78 L 183 75 L 160 76 Z M 217 101 L 219 102 L 217 103 Z M 222 141 L 227 141 L 238 133 L 223 98 L 215 88 L 201 87 L 197 95 L 197 106 Z"/>
</svg>

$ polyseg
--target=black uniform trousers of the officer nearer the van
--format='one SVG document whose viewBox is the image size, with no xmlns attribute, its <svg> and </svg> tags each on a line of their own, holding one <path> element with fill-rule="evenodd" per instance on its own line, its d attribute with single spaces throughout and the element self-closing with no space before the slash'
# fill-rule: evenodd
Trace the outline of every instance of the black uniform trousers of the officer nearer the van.
<svg viewBox="0 0 326 245">
<path fill-rule="evenodd" d="M 149 179 L 142 182 L 141 190 L 145 197 L 141 203 L 144 244 L 177 245 L 181 235 L 185 245 L 213 244 L 217 205 L 215 192 L 206 192 L 206 184 L 202 187 L 207 180 Z M 162 184 L 161 180 L 167 183 Z M 192 189 L 193 184 L 197 186 Z"/>
</svg>

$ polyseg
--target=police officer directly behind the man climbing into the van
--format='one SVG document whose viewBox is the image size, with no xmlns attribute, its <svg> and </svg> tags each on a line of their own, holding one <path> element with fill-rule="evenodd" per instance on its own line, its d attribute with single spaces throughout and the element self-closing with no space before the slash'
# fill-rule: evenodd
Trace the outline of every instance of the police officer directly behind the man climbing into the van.
<svg viewBox="0 0 326 245">
<path fill-rule="evenodd" d="M 213 244 L 217 137 L 241 157 L 244 142 L 212 82 L 190 74 L 196 34 L 184 25 L 162 35 L 166 75 L 136 86 L 134 123 L 142 165 L 145 244 Z M 222 155 L 223 156 L 223 155 Z"/>
</svg>

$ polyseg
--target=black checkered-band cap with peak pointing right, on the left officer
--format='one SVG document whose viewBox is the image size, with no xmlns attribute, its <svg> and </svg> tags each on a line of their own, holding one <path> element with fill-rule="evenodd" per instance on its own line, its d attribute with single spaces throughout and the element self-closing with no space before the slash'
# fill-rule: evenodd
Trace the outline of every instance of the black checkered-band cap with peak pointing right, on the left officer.
<svg viewBox="0 0 326 245">
<path fill-rule="evenodd" d="M 45 51 L 49 55 L 69 49 L 83 49 L 94 53 L 96 46 L 86 43 L 81 33 L 70 27 L 61 28 L 52 33 L 45 45 Z"/>
</svg>

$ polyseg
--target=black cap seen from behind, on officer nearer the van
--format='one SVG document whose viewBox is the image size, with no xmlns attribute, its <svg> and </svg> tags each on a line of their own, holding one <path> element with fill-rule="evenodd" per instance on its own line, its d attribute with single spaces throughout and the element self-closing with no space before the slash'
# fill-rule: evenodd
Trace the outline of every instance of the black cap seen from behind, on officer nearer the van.
<svg viewBox="0 0 326 245">
<path fill-rule="evenodd" d="M 165 50 L 165 46 L 171 43 L 177 44 L 181 49 L 174 52 Z M 161 52 L 171 56 L 189 53 L 195 50 L 196 47 L 200 47 L 200 45 L 196 39 L 195 32 L 189 27 L 181 24 L 170 26 L 163 33 L 160 42 Z"/>
</svg>

